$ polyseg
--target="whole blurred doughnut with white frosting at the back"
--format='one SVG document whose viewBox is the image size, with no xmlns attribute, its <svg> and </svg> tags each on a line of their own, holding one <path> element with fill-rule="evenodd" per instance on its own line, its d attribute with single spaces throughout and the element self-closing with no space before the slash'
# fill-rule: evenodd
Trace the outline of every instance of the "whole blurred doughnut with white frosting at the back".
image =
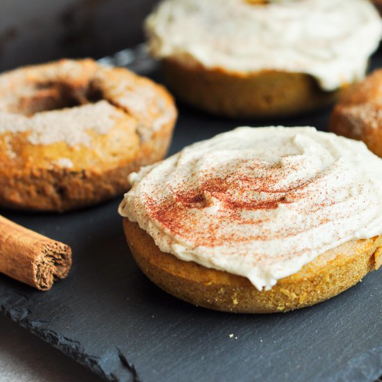
<svg viewBox="0 0 382 382">
<path fill-rule="evenodd" d="M 332 103 L 362 79 L 381 25 L 367 0 L 165 0 L 146 30 L 179 99 L 269 118 Z"/>
</svg>

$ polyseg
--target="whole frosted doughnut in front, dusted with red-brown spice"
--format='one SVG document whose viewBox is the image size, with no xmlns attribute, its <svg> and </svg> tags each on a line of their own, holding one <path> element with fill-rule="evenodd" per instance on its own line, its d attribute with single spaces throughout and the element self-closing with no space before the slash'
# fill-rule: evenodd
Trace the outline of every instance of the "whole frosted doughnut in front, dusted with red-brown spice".
<svg viewBox="0 0 382 382">
<path fill-rule="evenodd" d="M 382 160 L 314 128 L 238 128 L 130 176 L 119 213 L 138 265 L 192 304 L 317 304 L 382 264 Z"/>
</svg>

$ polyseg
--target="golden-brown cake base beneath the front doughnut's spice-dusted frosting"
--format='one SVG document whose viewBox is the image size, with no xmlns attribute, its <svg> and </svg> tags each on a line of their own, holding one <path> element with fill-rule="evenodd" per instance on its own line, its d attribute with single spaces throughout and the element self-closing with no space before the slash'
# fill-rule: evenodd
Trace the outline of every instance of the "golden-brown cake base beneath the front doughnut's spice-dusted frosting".
<svg viewBox="0 0 382 382">
<path fill-rule="evenodd" d="M 234 313 L 276 313 L 329 299 L 382 263 L 382 237 L 347 242 L 327 251 L 269 291 L 242 276 L 179 260 L 158 249 L 137 223 L 124 218 L 128 245 L 140 269 L 160 288 L 197 306 Z"/>
</svg>

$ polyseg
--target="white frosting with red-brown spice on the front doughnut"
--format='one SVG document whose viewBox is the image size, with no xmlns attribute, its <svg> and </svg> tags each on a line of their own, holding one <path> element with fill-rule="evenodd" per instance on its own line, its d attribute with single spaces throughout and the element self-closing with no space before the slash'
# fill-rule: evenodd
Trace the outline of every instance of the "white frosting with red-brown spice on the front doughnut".
<svg viewBox="0 0 382 382">
<path fill-rule="evenodd" d="M 382 160 L 312 127 L 241 127 L 130 177 L 119 213 L 163 252 L 269 290 L 329 249 L 382 233 Z"/>
</svg>

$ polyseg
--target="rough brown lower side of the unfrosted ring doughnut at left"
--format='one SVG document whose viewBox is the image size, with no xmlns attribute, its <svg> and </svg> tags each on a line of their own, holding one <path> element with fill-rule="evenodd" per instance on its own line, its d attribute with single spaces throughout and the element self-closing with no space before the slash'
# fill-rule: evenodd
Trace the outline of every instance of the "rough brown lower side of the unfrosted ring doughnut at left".
<svg viewBox="0 0 382 382">
<path fill-rule="evenodd" d="M 141 144 L 140 152 L 132 153 L 130 162 L 110 169 L 94 170 L 88 166 L 81 171 L 60 167 L 0 171 L 0 206 L 65 212 L 112 199 L 128 189 L 128 174 L 165 157 L 172 128 L 173 122 L 155 133 L 149 142 Z"/>
</svg>

